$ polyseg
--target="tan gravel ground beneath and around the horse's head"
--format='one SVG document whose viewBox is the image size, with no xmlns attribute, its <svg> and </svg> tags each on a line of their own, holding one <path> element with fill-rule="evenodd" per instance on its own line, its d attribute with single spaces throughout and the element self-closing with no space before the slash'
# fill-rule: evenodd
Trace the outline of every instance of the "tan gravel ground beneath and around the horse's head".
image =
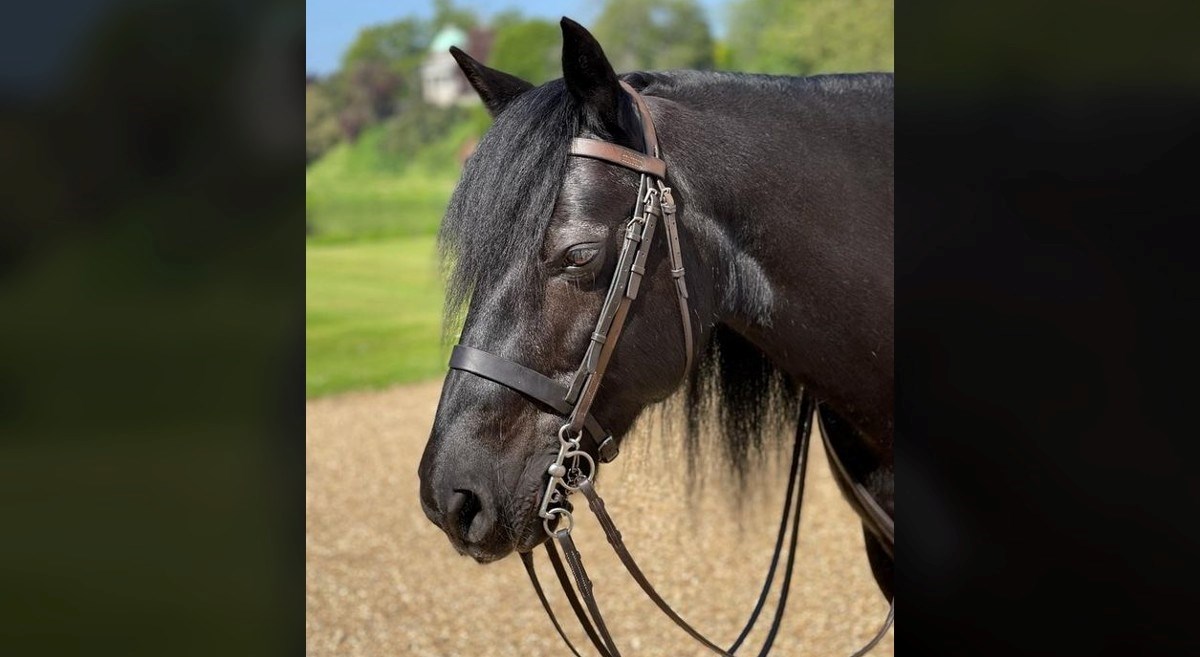
<svg viewBox="0 0 1200 657">
<path fill-rule="evenodd" d="M 434 381 L 307 403 L 310 656 L 569 655 L 518 559 L 481 566 L 460 556 L 421 512 L 416 466 L 439 390 Z M 830 478 L 820 441 L 812 447 L 792 592 L 773 655 L 848 655 L 887 613 L 860 525 Z M 715 468 L 702 468 L 703 486 L 689 493 L 679 454 L 678 441 L 635 435 L 605 466 L 598 488 L 659 592 L 702 632 L 728 643 L 766 574 L 786 464 L 770 459 L 761 486 L 739 505 Z M 577 520 L 575 540 L 622 651 L 709 655 L 642 595 L 590 513 Z M 556 589 L 551 601 L 572 616 L 538 554 L 544 584 Z M 569 621 L 576 645 L 587 643 Z M 745 653 L 756 653 L 768 626 L 760 621 Z M 894 651 L 893 628 L 872 655 Z"/>
</svg>

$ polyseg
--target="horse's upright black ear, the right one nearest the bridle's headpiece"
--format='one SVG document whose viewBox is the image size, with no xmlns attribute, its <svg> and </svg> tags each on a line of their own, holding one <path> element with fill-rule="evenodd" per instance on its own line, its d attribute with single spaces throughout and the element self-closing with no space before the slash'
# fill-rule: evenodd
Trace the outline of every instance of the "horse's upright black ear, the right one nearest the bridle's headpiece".
<svg viewBox="0 0 1200 657">
<path fill-rule="evenodd" d="M 583 25 L 563 17 L 563 82 L 590 119 L 618 123 L 620 83 L 600 43 Z"/>
</svg>

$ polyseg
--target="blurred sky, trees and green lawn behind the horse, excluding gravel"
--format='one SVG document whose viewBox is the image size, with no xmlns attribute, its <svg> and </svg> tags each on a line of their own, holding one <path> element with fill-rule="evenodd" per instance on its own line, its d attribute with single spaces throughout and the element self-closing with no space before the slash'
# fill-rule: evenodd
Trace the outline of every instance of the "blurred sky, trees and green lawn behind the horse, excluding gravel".
<svg viewBox="0 0 1200 657">
<path fill-rule="evenodd" d="M 305 80 L 307 396 L 439 376 L 434 234 L 490 123 L 446 52 L 562 77 L 558 19 L 618 73 L 892 71 L 892 0 L 310 0 Z"/>
</svg>

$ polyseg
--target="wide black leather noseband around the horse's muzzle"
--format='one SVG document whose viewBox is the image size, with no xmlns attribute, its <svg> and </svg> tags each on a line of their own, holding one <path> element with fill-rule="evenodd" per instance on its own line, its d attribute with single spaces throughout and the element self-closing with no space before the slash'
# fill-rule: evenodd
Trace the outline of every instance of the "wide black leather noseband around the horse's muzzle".
<svg viewBox="0 0 1200 657">
<path fill-rule="evenodd" d="M 450 368 L 469 372 L 510 387 L 546 404 L 560 415 L 571 412 L 570 404 L 564 400 L 566 386 L 528 367 L 493 356 L 487 351 L 457 344 L 450 354 Z M 584 418 L 583 428 L 587 429 L 584 439 L 592 441 L 592 445 L 583 446 L 584 448 L 596 454 L 604 463 L 617 458 L 617 442 L 612 440 L 612 434 L 606 432 L 595 417 L 588 415 Z"/>
</svg>

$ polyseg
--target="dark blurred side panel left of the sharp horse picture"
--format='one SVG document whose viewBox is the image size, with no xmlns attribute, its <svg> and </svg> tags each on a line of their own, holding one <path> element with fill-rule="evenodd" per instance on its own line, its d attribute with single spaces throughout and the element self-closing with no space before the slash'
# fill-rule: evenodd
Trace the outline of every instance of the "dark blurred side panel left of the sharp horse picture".
<svg viewBox="0 0 1200 657">
<path fill-rule="evenodd" d="M 0 652 L 300 652 L 304 7 L 0 22 Z"/>
</svg>

